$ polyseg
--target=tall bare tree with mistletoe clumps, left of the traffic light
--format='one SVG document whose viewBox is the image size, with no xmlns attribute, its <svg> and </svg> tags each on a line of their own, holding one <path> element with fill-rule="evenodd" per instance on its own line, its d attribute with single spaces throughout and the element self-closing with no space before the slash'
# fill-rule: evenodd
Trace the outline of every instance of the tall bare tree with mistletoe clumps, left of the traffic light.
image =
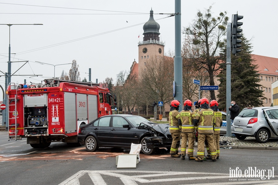
<svg viewBox="0 0 278 185">
<path fill-rule="evenodd" d="M 226 26 L 229 18 L 226 12 L 220 12 L 219 16 L 213 17 L 210 6 L 204 12 L 197 12 L 196 19 L 188 27 L 184 27 L 183 32 L 192 38 L 192 43 L 198 45 L 197 53 L 189 53 L 188 58 L 195 58 L 193 65 L 208 72 L 209 84 L 214 86 L 214 72 L 219 69 L 220 58 L 219 45 L 221 39 L 226 34 Z M 224 38 L 225 39 L 225 38 Z M 215 99 L 215 93 L 210 91 L 210 98 Z"/>
</svg>

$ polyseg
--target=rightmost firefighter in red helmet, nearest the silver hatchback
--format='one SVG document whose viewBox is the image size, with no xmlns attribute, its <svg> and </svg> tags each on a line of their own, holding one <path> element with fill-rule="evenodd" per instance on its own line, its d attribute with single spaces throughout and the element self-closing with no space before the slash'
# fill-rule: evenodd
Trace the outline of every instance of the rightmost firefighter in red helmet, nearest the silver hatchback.
<svg viewBox="0 0 278 185">
<path fill-rule="evenodd" d="M 214 112 L 214 146 L 216 149 L 216 158 L 219 158 L 220 155 L 220 148 L 219 148 L 219 139 L 220 139 L 220 127 L 222 126 L 222 114 L 218 110 L 218 103 L 216 100 L 212 100 L 209 103 L 209 107 L 213 110 Z M 208 150 L 209 152 L 209 150 Z M 210 154 L 208 154 L 208 157 L 206 159 L 212 159 Z"/>
</svg>

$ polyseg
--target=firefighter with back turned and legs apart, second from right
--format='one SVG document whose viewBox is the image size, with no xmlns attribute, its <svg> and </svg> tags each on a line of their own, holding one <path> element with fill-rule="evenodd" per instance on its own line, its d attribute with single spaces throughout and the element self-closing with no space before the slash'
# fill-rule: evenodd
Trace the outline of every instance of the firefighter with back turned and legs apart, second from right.
<svg viewBox="0 0 278 185">
<path fill-rule="evenodd" d="M 194 125 L 198 125 L 198 157 L 195 159 L 196 162 L 203 162 L 204 159 L 204 141 L 208 141 L 208 147 L 211 152 L 212 161 L 216 161 L 216 149 L 214 147 L 213 139 L 213 121 L 214 112 L 209 108 L 208 99 L 203 98 L 200 101 L 201 109 L 197 112 L 195 119 L 193 120 Z"/>
</svg>

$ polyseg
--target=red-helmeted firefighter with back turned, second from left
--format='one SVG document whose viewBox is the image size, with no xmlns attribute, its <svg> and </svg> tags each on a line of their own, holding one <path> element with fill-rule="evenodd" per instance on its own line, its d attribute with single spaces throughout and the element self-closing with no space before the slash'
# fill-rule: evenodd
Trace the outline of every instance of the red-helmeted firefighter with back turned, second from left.
<svg viewBox="0 0 278 185">
<path fill-rule="evenodd" d="M 185 150 L 187 145 L 188 139 L 188 149 L 187 149 L 187 156 L 189 160 L 195 160 L 193 156 L 193 149 L 194 149 L 194 141 L 195 141 L 195 128 L 192 122 L 192 115 L 195 115 L 194 111 L 191 110 L 192 108 L 192 101 L 189 99 L 185 100 L 184 108 L 180 111 L 180 120 L 182 123 L 182 130 L 181 130 L 181 137 L 182 137 L 182 144 L 181 144 L 181 155 L 182 160 L 185 159 Z"/>
</svg>

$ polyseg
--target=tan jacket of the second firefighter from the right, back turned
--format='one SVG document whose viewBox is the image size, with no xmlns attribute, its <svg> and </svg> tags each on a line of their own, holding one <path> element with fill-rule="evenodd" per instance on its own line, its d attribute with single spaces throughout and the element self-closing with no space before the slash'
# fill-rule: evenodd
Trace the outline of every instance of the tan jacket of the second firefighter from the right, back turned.
<svg viewBox="0 0 278 185">
<path fill-rule="evenodd" d="M 198 133 L 213 134 L 214 112 L 212 109 L 200 109 L 194 119 L 194 123 L 198 125 Z"/>
</svg>

